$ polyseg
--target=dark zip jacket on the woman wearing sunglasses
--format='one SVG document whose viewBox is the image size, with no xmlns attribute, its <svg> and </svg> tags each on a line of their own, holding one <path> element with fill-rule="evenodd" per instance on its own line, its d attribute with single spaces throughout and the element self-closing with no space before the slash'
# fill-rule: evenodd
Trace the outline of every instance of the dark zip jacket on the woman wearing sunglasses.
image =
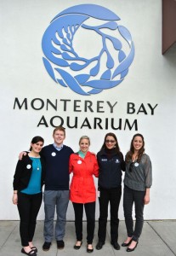
<svg viewBox="0 0 176 256">
<path fill-rule="evenodd" d="M 125 171 L 125 161 L 120 152 L 113 152 L 111 157 L 102 149 L 97 154 L 99 163 L 99 189 L 114 189 L 121 186 L 122 171 Z"/>
</svg>

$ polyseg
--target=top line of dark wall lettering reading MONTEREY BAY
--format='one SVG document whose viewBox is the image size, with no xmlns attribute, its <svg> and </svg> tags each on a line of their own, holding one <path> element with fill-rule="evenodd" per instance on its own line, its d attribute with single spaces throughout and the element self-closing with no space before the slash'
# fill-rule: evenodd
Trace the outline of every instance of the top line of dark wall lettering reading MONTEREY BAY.
<svg viewBox="0 0 176 256">
<path fill-rule="evenodd" d="M 34 110 L 42 110 L 46 109 L 51 110 L 54 109 L 55 111 L 63 110 L 65 112 L 67 111 L 73 111 L 73 112 L 89 112 L 89 113 L 115 113 L 115 107 L 117 102 L 111 103 L 111 102 L 104 102 L 104 101 L 81 101 L 81 100 L 68 100 L 68 99 L 60 99 L 60 100 L 53 100 L 50 101 L 49 99 L 46 99 L 45 101 L 41 98 L 34 98 L 30 102 L 30 106 Z M 139 113 L 145 113 L 145 114 L 151 114 L 154 115 L 154 110 L 156 109 L 157 104 L 155 106 L 151 106 L 150 103 L 147 103 L 146 105 L 144 103 L 141 103 L 139 107 L 136 107 L 136 105 L 133 102 L 127 103 L 127 113 L 128 114 L 139 114 Z M 17 97 L 14 99 L 14 109 L 26 109 L 28 110 L 29 107 L 29 100 L 25 98 L 24 100 L 20 101 Z"/>
</svg>

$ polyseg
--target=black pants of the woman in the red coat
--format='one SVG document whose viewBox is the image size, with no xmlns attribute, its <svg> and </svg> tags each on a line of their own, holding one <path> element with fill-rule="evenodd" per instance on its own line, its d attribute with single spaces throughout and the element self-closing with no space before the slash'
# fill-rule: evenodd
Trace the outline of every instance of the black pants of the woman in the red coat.
<svg viewBox="0 0 176 256">
<path fill-rule="evenodd" d="M 87 204 L 79 204 L 73 202 L 77 241 L 82 241 L 83 206 L 87 217 L 87 241 L 88 244 L 91 244 L 93 243 L 94 239 L 95 201 Z"/>
</svg>

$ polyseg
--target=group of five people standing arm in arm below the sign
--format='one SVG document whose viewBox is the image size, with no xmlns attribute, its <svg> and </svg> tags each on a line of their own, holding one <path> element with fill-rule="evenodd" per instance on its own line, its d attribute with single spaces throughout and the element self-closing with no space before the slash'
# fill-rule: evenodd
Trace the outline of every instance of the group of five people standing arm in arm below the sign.
<svg viewBox="0 0 176 256">
<path fill-rule="evenodd" d="M 130 149 L 123 159 L 116 135 L 107 133 L 104 143 L 96 155 L 89 151 L 90 139 L 82 136 L 79 151 L 74 153 L 65 146 L 65 128 L 56 127 L 54 143 L 43 147 L 43 137 L 31 140 L 29 152 L 22 152 L 14 172 L 13 203 L 20 214 L 21 253 L 37 255 L 37 247 L 32 243 L 37 213 L 44 201 L 44 243 L 43 251 L 48 251 L 55 236 L 57 247 L 65 247 L 66 211 L 71 200 L 75 212 L 77 241 L 74 249 L 82 246 L 83 208 L 87 218 L 87 252 L 94 251 L 95 201 L 94 177 L 98 177 L 99 230 L 96 249 L 105 244 L 108 205 L 111 207 L 111 245 L 118 244 L 118 208 L 122 196 L 122 171 L 124 177 L 123 209 L 127 227 L 127 239 L 122 247 L 132 252 L 138 245 L 144 223 L 144 206 L 150 201 L 152 183 L 150 157 L 145 154 L 145 141 L 141 134 L 133 136 Z M 70 174 L 72 173 L 71 185 Z M 44 192 L 42 190 L 44 184 Z M 135 226 L 133 228 L 133 204 L 135 206 Z M 54 212 L 57 219 L 54 235 Z"/>
</svg>

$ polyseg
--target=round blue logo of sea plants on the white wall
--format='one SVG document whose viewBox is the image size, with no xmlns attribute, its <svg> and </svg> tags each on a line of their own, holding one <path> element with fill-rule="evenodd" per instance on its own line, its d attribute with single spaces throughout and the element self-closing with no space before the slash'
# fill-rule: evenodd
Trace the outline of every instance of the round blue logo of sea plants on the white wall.
<svg viewBox="0 0 176 256">
<path fill-rule="evenodd" d="M 83 96 L 121 84 L 133 62 L 134 45 L 119 20 L 96 4 L 76 5 L 56 15 L 42 40 L 50 77 Z"/>
</svg>

